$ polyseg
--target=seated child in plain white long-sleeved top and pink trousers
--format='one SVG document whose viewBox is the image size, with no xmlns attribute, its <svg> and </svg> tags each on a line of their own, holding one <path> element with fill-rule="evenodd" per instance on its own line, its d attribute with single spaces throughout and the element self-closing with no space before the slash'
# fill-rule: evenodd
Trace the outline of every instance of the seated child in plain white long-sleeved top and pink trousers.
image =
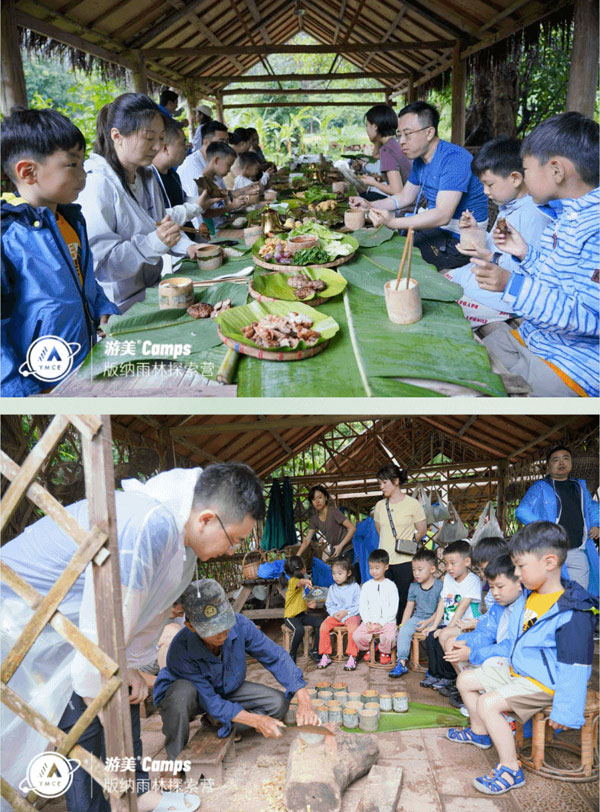
<svg viewBox="0 0 600 812">
<path fill-rule="evenodd" d="M 390 652 L 396 642 L 398 626 L 398 589 L 393 581 L 385 577 L 390 565 L 390 557 L 385 550 L 373 550 L 369 555 L 369 573 L 372 580 L 363 584 L 360 590 L 358 610 L 361 624 L 352 635 L 359 651 L 367 651 L 374 634 L 379 635 L 380 662 L 389 665 Z M 369 653 L 364 659 L 369 661 Z"/>
</svg>

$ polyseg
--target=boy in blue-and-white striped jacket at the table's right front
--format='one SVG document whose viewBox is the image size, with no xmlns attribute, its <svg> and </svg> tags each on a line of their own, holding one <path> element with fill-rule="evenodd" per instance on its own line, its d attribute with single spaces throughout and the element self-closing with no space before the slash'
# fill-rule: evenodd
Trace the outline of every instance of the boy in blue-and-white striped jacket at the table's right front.
<svg viewBox="0 0 600 812">
<path fill-rule="evenodd" d="M 494 230 L 494 242 L 520 263 L 512 274 L 473 259 L 484 290 L 503 291 L 505 309 L 523 317 L 484 343 L 538 397 L 598 397 L 598 124 L 580 113 L 552 116 L 523 141 L 525 183 L 553 222 L 539 250 L 514 227 Z"/>
</svg>

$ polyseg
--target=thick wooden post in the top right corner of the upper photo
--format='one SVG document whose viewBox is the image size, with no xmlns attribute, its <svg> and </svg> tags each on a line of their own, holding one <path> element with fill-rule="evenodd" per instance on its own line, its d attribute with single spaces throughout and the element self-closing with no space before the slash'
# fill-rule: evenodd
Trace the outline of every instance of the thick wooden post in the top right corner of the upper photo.
<svg viewBox="0 0 600 812">
<path fill-rule="evenodd" d="M 567 110 L 593 118 L 597 80 L 598 3 L 597 0 L 575 0 Z"/>
</svg>

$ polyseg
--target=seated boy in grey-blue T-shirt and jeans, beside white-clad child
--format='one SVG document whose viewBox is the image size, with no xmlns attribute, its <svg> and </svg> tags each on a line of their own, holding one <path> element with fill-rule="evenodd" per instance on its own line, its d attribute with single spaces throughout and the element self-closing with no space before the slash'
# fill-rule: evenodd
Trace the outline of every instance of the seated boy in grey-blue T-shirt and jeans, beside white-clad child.
<svg viewBox="0 0 600 812">
<path fill-rule="evenodd" d="M 417 550 L 412 560 L 414 581 L 408 588 L 406 609 L 398 631 L 398 665 L 388 674 L 397 679 L 406 674 L 412 636 L 424 629 L 435 616 L 442 592 L 442 582 L 435 577 L 437 558 L 433 550 Z"/>
</svg>

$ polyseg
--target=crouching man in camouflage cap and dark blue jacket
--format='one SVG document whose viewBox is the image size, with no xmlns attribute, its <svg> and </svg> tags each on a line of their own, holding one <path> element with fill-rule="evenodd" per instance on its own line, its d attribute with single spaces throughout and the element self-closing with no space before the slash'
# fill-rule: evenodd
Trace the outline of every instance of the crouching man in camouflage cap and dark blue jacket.
<svg viewBox="0 0 600 812">
<path fill-rule="evenodd" d="M 236 614 L 216 581 L 194 581 L 183 593 L 186 628 L 173 639 L 166 668 L 154 685 L 165 750 L 177 759 L 187 745 L 190 721 L 206 713 L 221 738 L 232 729 L 254 728 L 266 738 L 279 738 L 280 720 L 294 694 L 299 725 L 318 724 L 302 671 L 290 655 L 251 620 Z M 246 679 L 246 654 L 273 674 L 285 693 Z"/>
</svg>

